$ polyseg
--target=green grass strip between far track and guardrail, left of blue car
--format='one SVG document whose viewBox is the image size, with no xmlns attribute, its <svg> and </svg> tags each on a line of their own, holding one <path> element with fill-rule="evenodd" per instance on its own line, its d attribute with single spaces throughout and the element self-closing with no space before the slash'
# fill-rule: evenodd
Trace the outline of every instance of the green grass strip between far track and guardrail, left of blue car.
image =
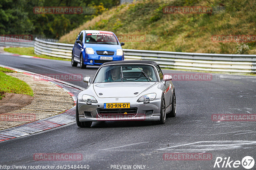
<svg viewBox="0 0 256 170">
<path fill-rule="evenodd" d="M 10 48 L 4 48 L 4 51 L 9 52 L 9 53 L 20 54 L 20 55 L 31 55 L 31 56 L 45 58 L 45 59 L 71 61 L 71 59 L 64 59 L 64 58 L 60 58 L 60 57 L 37 55 L 34 53 L 34 47 L 10 47 Z"/>
</svg>

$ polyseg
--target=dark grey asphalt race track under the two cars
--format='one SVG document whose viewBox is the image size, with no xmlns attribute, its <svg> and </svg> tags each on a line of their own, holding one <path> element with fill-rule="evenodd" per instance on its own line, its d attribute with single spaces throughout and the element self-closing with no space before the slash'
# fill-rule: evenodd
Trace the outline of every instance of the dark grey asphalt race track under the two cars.
<svg viewBox="0 0 256 170">
<path fill-rule="evenodd" d="M 0 64 L 38 74 L 82 74 L 91 77 L 98 68 L 80 69 L 71 67 L 70 61 L 2 54 Z M 166 69 L 163 72 L 193 74 Z M 85 86 L 82 81 L 68 82 Z M 135 165 L 144 165 L 136 169 L 244 169 L 242 165 L 237 168 L 213 166 L 217 157 L 242 161 L 245 156 L 251 156 L 256 161 L 255 121 L 218 122 L 211 119 L 218 114 L 255 115 L 255 77 L 212 74 L 210 81 L 172 82 L 177 115 L 167 118 L 164 125 L 107 121 L 94 122 L 91 128 L 78 128 L 76 123 L 71 123 L 0 142 L 0 165 L 50 165 L 55 169 L 58 165 L 89 165 L 89 169 L 116 169 L 113 165 L 131 165 L 131 169 Z M 35 161 L 35 153 L 78 153 L 83 155 L 83 159 Z M 209 153 L 212 159 L 164 160 L 164 153 Z M 222 164 L 223 161 L 220 166 Z M 256 165 L 252 169 L 256 169 Z"/>
</svg>

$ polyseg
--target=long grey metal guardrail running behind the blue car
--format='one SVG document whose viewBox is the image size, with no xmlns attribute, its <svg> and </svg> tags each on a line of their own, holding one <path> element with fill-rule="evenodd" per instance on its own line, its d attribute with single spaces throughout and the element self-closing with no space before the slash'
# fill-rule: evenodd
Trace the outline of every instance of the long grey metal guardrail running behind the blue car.
<svg viewBox="0 0 256 170">
<path fill-rule="evenodd" d="M 35 39 L 36 54 L 71 59 L 73 46 L 73 44 Z M 123 51 L 125 60 L 152 60 L 166 68 L 236 73 L 256 72 L 256 55 L 181 53 L 133 49 L 123 49 Z"/>
</svg>

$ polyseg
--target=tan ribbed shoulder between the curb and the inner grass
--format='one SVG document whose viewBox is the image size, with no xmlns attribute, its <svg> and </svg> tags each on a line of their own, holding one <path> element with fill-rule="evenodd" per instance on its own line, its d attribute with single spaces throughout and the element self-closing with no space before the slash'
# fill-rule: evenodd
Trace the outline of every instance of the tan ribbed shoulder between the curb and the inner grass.
<svg viewBox="0 0 256 170">
<path fill-rule="evenodd" d="M 8 105 L 8 102 L 5 102 L 4 107 L 8 112 L 0 114 L 0 130 L 51 117 L 74 106 L 73 98 L 66 91 L 48 81 L 36 80 L 33 75 L 26 73 L 6 74 L 25 81 L 33 90 L 34 99 L 29 104 L 31 96 L 23 96 L 25 107 L 18 110 L 12 110 L 15 103 L 10 102 Z M 2 103 L 0 104 L 2 106 Z M 12 111 L 8 110 L 8 107 Z"/>
</svg>

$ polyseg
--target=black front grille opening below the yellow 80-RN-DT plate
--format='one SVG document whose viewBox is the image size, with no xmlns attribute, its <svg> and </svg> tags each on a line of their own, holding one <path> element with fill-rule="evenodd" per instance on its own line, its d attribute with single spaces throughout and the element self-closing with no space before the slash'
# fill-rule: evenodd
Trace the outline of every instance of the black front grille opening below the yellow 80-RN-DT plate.
<svg viewBox="0 0 256 170">
<path fill-rule="evenodd" d="M 125 113 L 126 112 L 126 113 Z M 103 117 L 109 116 L 134 116 L 137 112 L 137 108 L 129 109 L 99 109 L 98 113 Z"/>
</svg>

